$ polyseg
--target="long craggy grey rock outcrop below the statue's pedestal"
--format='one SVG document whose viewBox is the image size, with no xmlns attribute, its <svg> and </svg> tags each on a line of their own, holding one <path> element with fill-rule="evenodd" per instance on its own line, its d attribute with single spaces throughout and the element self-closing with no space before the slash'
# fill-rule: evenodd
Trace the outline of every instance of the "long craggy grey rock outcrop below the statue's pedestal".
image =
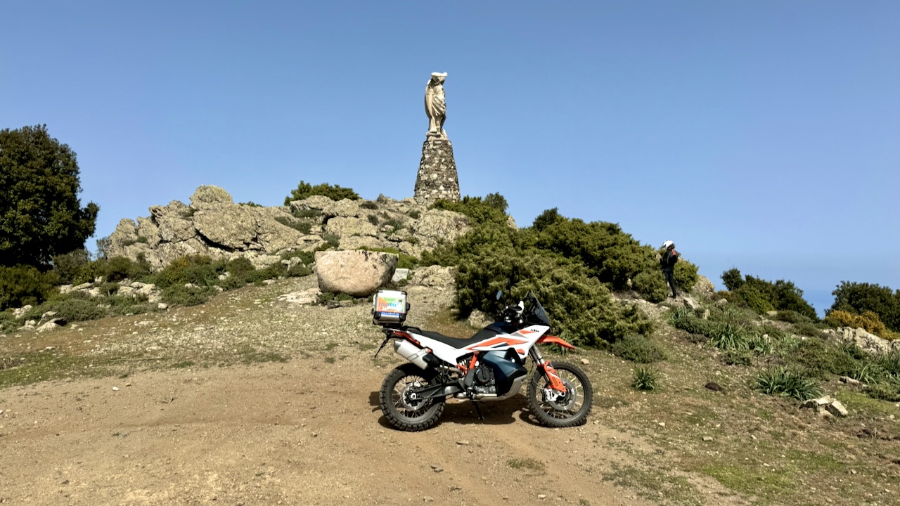
<svg viewBox="0 0 900 506">
<path fill-rule="evenodd" d="M 470 230 L 464 215 L 428 210 L 411 198 L 336 202 L 314 195 L 287 206 L 262 207 L 234 203 L 228 192 L 211 185 L 197 188 L 189 205 L 173 201 L 149 211 L 137 221 L 119 222 L 110 236 L 108 256 L 144 258 L 153 270 L 187 255 L 244 257 L 255 267 L 266 267 L 284 252 L 313 251 L 323 245 L 391 248 L 419 257 Z"/>
</svg>

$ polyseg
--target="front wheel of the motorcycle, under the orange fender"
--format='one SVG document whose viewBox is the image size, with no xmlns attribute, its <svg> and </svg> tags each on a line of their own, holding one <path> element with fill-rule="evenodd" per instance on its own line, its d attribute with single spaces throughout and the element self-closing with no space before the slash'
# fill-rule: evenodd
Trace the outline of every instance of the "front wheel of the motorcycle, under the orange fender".
<svg viewBox="0 0 900 506">
<path fill-rule="evenodd" d="M 556 374 L 565 384 L 565 393 L 550 388 L 550 380 L 540 370 L 528 383 L 528 407 L 535 418 L 547 427 L 575 427 L 588 420 L 594 390 L 581 367 L 568 362 L 554 362 Z"/>
</svg>

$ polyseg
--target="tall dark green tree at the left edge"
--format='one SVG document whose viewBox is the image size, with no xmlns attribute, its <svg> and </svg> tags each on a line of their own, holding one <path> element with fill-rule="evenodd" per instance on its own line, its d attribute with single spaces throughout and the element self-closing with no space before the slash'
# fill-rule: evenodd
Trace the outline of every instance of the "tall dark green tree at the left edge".
<svg viewBox="0 0 900 506">
<path fill-rule="evenodd" d="M 0 131 L 0 265 L 49 267 L 84 248 L 100 207 L 81 207 L 76 154 L 46 125 Z"/>
</svg>

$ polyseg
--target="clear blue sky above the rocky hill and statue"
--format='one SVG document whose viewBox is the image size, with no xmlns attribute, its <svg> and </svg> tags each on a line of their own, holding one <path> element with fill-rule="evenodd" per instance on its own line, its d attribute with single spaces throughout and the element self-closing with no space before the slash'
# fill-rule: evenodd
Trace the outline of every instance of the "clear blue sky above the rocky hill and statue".
<svg viewBox="0 0 900 506">
<path fill-rule="evenodd" d="M 842 280 L 900 288 L 896 0 L 6 0 L 0 128 L 76 151 L 96 237 L 199 185 L 400 199 L 433 71 L 462 193 L 520 226 L 617 222 L 820 313 Z"/>
</svg>

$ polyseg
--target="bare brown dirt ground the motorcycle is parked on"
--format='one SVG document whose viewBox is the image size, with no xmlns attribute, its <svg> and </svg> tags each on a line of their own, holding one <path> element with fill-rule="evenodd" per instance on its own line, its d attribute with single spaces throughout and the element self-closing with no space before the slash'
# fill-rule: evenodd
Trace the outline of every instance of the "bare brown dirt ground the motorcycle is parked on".
<svg viewBox="0 0 900 506">
<path fill-rule="evenodd" d="M 643 504 L 602 479 L 593 422 L 545 429 L 525 398 L 385 425 L 365 357 L 148 372 L 0 392 L 10 504 Z"/>
</svg>

